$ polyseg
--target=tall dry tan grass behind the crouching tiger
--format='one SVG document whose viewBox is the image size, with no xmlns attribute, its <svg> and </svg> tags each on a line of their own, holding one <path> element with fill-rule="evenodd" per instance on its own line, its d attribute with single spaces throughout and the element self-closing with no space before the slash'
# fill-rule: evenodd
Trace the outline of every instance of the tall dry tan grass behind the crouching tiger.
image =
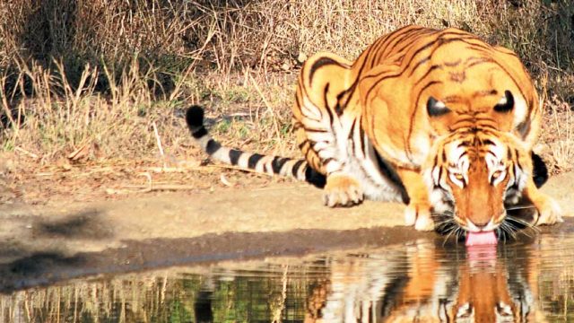
<svg viewBox="0 0 574 323">
<path fill-rule="evenodd" d="M 200 103 L 224 143 L 292 155 L 300 62 L 319 50 L 356 57 L 418 23 L 517 51 L 552 98 L 544 142 L 564 170 L 574 151 L 563 124 L 574 102 L 573 16 L 570 0 L 4 1 L 2 149 L 44 163 L 155 158 L 155 125 L 161 161 L 187 158 L 182 111 Z"/>
</svg>

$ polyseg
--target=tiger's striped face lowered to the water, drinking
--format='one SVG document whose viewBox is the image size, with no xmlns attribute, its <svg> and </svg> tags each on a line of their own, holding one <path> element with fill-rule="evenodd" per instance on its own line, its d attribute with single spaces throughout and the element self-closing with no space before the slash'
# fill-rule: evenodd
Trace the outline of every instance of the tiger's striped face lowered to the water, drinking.
<svg viewBox="0 0 574 323">
<path fill-rule="evenodd" d="M 431 205 L 452 214 L 465 231 L 493 231 L 503 223 L 505 202 L 517 200 L 526 184 L 519 149 L 495 131 L 453 133 L 439 140 L 424 171 Z"/>
</svg>

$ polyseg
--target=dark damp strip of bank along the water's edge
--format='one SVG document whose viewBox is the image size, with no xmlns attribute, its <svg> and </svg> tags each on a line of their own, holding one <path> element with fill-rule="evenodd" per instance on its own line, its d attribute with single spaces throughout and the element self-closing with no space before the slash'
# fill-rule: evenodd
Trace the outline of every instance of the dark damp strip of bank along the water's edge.
<svg viewBox="0 0 574 323">
<path fill-rule="evenodd" d="M 541 231 L 540 234 L 574 232 L 574 218 L 567 218 L 561 225 L 543 227 Z M 66 256 L 62 252 L 40 251 L 0 264 L 0 292 L 13 292 L 88 275 L 115 275 L 168 266 L 213 264 L 224 260 L 300 256 L 337 249 L 381 248 L 415 243 L 417 240 L 435 240 L 442 245 L 444 238 L 411 228 L 378 227 L 351 231 L 225 232 L 190 239 L 126 240 L 122 248 L 101 252 L 80 252 Z M 0 246 L 0 253 L 5 252 L 2 248 Z"/>
</svg>

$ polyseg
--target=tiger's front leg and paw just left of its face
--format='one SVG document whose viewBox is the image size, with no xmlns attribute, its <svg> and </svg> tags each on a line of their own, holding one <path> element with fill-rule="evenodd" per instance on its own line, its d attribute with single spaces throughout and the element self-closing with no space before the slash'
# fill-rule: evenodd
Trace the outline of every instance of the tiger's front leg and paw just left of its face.
<svg viewBox="0 0 574 323">
<path fill-rule="evenodd" d="M 434 230 L 428 188 L 422 175 L 416 170 L 400 168 L 397 172 L 409 196 L 409 204 L 404 210 L 405 225 L 414 225 L 417 231 Z"/>
</svg>

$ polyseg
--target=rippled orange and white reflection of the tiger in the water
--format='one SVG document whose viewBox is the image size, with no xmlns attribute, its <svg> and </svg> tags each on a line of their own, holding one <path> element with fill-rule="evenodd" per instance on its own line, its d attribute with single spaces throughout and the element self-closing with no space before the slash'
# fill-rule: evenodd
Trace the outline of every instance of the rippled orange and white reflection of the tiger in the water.
<svg viewBox="0 0 574 323">
<path fill-rule="evenodd" d="M 330 279 L 309 296 L 305 321 L 544 322 L 533 253 L 418 241 L 333 259 Z"/>
</svg>

